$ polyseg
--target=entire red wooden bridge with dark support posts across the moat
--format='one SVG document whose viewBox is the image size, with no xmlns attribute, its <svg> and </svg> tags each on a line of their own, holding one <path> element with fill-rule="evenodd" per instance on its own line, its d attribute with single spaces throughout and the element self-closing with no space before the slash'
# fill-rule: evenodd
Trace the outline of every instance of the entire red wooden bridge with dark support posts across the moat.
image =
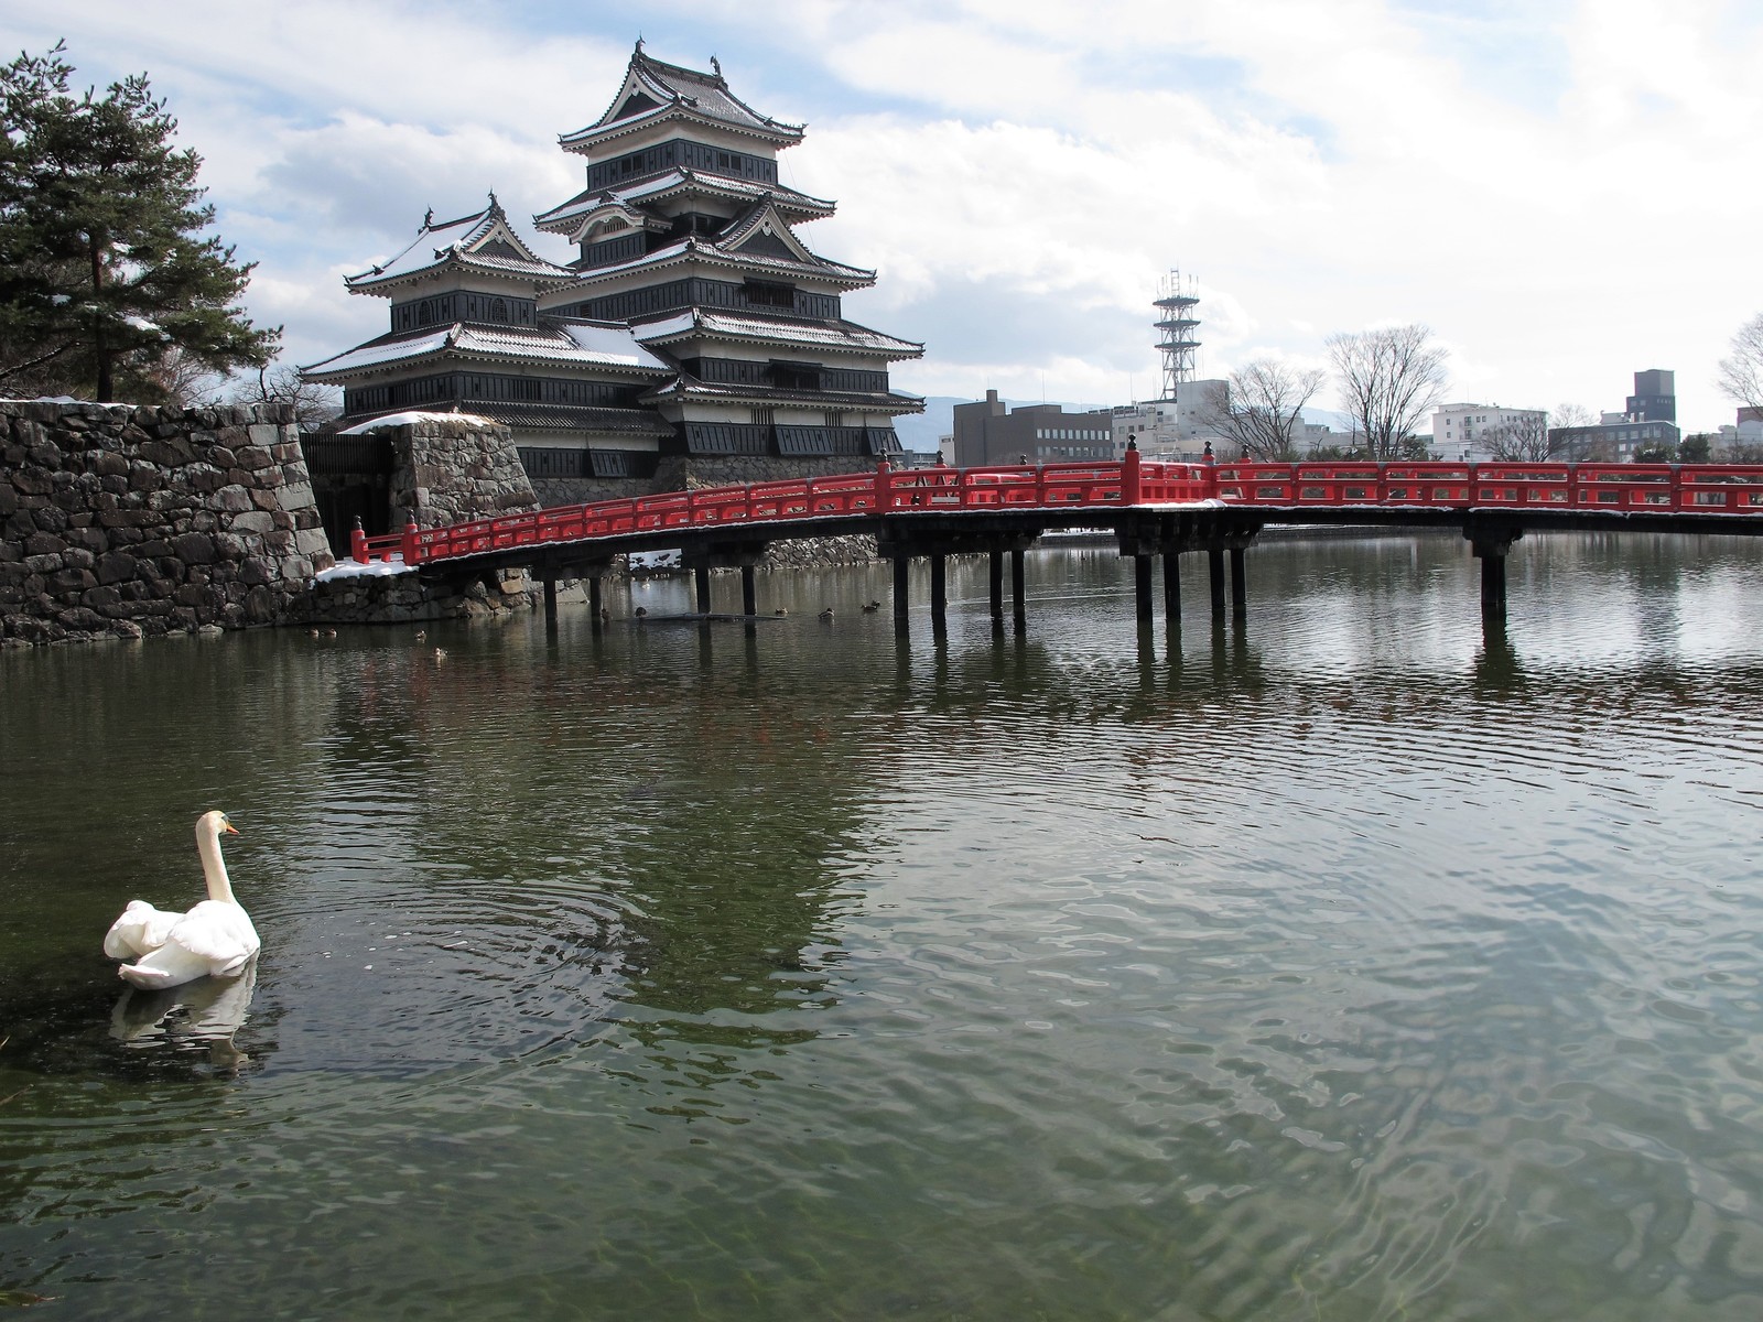
<svg viewBox="0 0 1763 1322">
<path fill-rule="evenodd" d="M 991 555 L 993 617 L 1003 612 L 1003 555 L 1014 559 L 1023 617 L 1023 552 L 1049 529 L 1107 529 L 1134 557 L 1139 619 L 1151 619 L 1151 557 L 1164 555 L 1165 606 L 1179 612 L 1167 559 L 1204 550 L 1213 613 L 1224 613 L 1224 562 L 1245 610 L 1243 550 L 1268 524 L 1460 525 L 1481 557 L 1481 605 L 1506 615 L 1506 553 L 1527 529 L 1763 532 L 1763 465 L 1677 464 L 1160 464 L 1128 451 L 1120 464 L 890 469 L 832 478 L 668 492 L 559 506 L 388 538 L 354 534 L 356 561 L 402 559 L 425 573 L 510 566 L 545 580 L 555 613 L 559 576 L 587 578 L 594 615 L 612 557 L 681 548 L 710 608 L 712 568 L 740 568 L 742 608 L 755 615 L 753 566 L 772 541 L 869 534 L 894 561 L 894 615 L 906 620 L 906 568 L 931 559 L 931 608 L 943 620 L 943 562 Z"/>
</svg>

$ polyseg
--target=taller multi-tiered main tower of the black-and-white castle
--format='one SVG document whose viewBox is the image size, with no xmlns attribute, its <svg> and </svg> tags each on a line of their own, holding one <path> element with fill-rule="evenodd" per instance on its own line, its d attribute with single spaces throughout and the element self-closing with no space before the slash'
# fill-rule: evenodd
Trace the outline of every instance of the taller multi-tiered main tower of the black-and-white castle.
<svg viewBox="0 0 1763 1322">
<path fill-rule="evenodd" d="M 889 390 L 889 363 L 924 345 L 846 321 L 841 298 L 874 271 L 815 254 L 797 226 L 834 204 L 777 182 L 802 141 L 710 72 L 631 53 L 594 123 L 559 145 L 587 187 L 532 219 L 578 249 L 545 312 L 629 324 L 679 367 L 645 395 L 684 455 L 873 462 L 899 449 L 894 418 L 922 402 Z"/>
</svg>

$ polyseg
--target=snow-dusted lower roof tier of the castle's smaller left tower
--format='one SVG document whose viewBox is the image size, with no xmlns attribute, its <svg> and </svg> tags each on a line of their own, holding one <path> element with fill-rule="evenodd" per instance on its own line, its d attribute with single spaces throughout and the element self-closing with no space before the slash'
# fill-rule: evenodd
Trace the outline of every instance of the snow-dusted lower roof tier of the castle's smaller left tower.
<svg viewBox="0 0 1763 1322">
<path fill-rule="evenodd" d="M 381 335 L 323 363 L 300 368 L 312 381 L 344 382 L 370 370 L 409 367 L 427 360 L 538 361 L 550 367 L 591 367 L 661 377 L 673 372 L 636 342 L 622 324 L 577 317 L 545 317 L 538 326 L 480 326 L 453 323 L 414 335 Z"/>
</svg>

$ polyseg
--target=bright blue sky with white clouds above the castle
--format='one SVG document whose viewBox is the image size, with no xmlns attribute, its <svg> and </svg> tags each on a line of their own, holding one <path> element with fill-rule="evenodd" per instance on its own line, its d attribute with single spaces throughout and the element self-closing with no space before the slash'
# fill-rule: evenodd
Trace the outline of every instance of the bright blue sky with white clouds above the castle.
<svg viewBox="0 0 1763 1322">
<path fill-rule="evenodd" d="M 846 316 L 924 342 L 920 395 L 1155 398 L 1151 300 L 1201 296 L 1201 375 L 1326 367 L 1425 323 L 1447 398 L 1620 411 L 1677 372 L 1685 430 L 1763 310 L 1756 0 L 0 0 L 0 49 L 146 72 L 205 159 L 259 324 L 314 363 L 388 326 L 342 277 L 423 213 L 518 220 L 582 189 L 633 42 L 721 60 L 806 123 L 779 178 L 874 268 Z M 568 261 L 557 236 L 538 250 Z M 1336 407 L 1333 386 L 1313 400 Z"/>
</svg>

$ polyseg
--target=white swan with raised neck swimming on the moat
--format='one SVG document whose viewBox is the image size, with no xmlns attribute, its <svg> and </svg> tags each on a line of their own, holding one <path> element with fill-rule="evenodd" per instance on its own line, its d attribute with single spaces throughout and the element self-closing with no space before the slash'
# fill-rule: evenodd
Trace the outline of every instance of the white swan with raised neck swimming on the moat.
<svg viewBox="0 0 1763 1322">
<path fill-rule="evenodd" d="M 201 977 L 227 978 L 240 973 L 263 947 L 250 915 L 233 899 L 233 883 L 220 857 L 220 832 L 238 836 L 226 813 L 203 813 L 196 820 L 196 851 L 203 858 L 208 899 L 189 913 L 129 901 L 104 934 L 106 955 L 134 961 L 116 969 L 123 982 L 152 991 Z"/>
</svg>

